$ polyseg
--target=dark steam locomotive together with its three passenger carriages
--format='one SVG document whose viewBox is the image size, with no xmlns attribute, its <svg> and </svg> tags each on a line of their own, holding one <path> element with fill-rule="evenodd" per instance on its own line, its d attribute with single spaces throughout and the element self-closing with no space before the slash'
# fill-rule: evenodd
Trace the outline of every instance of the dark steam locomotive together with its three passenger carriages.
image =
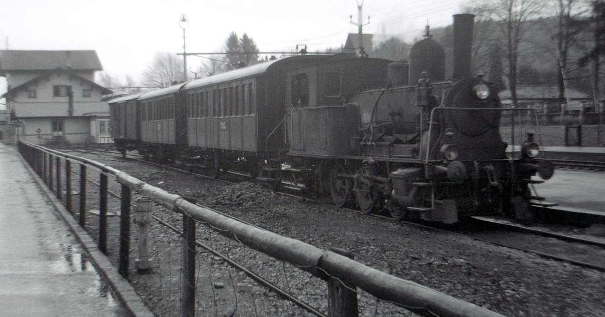
<svg viewBox="0 0 605 317">
<path fill-rule="evenodd" d="M 247 171 L 275 186 L 329 193 L 337 206 L 454 223 L 531 220 L 529 185 L 552 176 L 534 129 L 507 155 L 503 109 L 471 76 L 473 15 L 454 16 L 454 72 L 430 34 L 409 64 L 290 56 L 110 101 L 117 147 L 152 160 Z M 512 128 L 513 125 L 511 125 Z M 513 144 L 514 145 L 514 144 Z"/>
</svg>

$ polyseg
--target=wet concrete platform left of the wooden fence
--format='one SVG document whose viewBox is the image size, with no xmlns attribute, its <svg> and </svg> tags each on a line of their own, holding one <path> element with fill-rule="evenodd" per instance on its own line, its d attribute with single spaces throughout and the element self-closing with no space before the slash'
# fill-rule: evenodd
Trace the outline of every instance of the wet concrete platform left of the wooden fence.
<svg viewBox="0 0 605 317">
<path fill-rule="evenodd" d="M 22 163 L 0 143 L 0 315 L 123 316 L 88 255 Z"/>
</svg>

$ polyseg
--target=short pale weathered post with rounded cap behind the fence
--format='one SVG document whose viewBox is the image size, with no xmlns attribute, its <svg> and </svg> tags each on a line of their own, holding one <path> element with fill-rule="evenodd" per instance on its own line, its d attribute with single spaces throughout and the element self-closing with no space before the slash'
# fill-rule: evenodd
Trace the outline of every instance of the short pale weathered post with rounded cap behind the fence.
<svg viewBox="0 0 605 317">
<path fill-rule="evenodd" d="M 149 258 L 149 226 L 151 226 L 151 200 L 147 197 L 137 199 L 134 221 L 139 225 L 139 258 L 134 261 L 137 270 L 145 272 L 151 269 Z"/>
</svg>

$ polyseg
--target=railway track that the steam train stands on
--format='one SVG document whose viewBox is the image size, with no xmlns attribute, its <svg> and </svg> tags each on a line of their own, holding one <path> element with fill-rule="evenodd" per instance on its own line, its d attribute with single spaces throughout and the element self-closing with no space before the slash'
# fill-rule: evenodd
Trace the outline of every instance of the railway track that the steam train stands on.
<svg viewBox="0 0 605 317">
<path fill-rule="evenodd" d="M 90 151 L 88 151 L 90 152 Z M 100 152 L 102 155 L 121 155 L 117 152 Z M 202 174 L 196 174 L 189 172 L 181 167 L 160 165 L 148 161 L 152 165 L 162 166 L 163 168 L 174 169 L 175 171 L 187 172 L 189 174 L 198 175 L 204 178 L 212 178 Z M 226 183 L 235 184 L 233 181 L 219 180 Z M 282 195 L 288 195 L 290 197 L 299 198 L 302 200 L 313 201 L 315 203 L 329 204 L 324 201 L 318 201 L 316 199 L 310 199 L 296 194 L 288 194 L 280 192 Z M 349 211 L 362 213 L 355 209 L 347 209 Z M 223 213 L 221 213 L 223 214 Z M 227 217 L 231 217 L 227 214 Z M 389 221 L 397 221 L 391 217 L 385 217 L 384 215 L 371 214 L 373 217 L 384 218 Z M 237 218 L 234 218 L 237 219 Z M 241 220 L 238 220 L 241 221 Z M 540 230 L 532 227 L 520 226 L 519 224 L 506 223 L 505 221 L 497 221 L 491 218 L 474 217 L 475 222 L 473 227 L 465 228 L 460 230 L 459 227 L 443 228 L 439 226 L 427 225 L 422 223 L 416 223 L 413 221 L 401 221 L 402 223 L 423 227 L 430 230 L 442 230 L 450 234 L 463 235 L 465 237 L 472 238 L 473 240 L 483 241 L 486 243 L 495 244 L 498 246 L 508 247 L 511 249 L 522 250 L 523 252 L 533 253 L 543 258 L 549 258 L 551 260 L 563 261 L 571 263 L 577 266 L 587 267 L 590 269 L 596 269 L 605 272 L 605 266 L 602 263 L 602 257 L 595 257 L 595 254 L 599 252 L 605 253 L 605 241 L 592 240 L 587 238 L 575 237 L 573 235 L 557 234 L 555 232 L 549 232 L 546 230 Z M 399 221 L 397 221 L 399 222 Z M 480 225 L 477 225 L 480 224 Z M 514 234 L 514 237 L 512 236 Z M 512 237 L 512 238 L 511 238 Z M 530 238 L 531 237 L 531 238 Z M 537 239 L 542 239 L 538 241 Z M 555 243 L 552 240 L 556 240 Z M 531 243 L 528 243 L 531 241 Z M 563 250 L 563 252 L 562 252 Z M 575 252 L 576 250 L 577 252 Z M 563 255 L 561 255 L 563 253 Z M 220 255 L 217 255 L 220 256 Z"/>
</svg>

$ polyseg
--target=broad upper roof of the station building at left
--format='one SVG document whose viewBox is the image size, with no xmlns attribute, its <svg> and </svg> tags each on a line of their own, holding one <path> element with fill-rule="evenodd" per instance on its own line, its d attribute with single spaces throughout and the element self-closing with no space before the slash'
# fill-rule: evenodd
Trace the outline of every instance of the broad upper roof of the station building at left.
<svg viewBox="0 0 605 317">
<path fill-rule="evenodd" d="M 90 51 L 0 51 L 0 71 L 103 70 L 97 52 Z"/>
</svg>

